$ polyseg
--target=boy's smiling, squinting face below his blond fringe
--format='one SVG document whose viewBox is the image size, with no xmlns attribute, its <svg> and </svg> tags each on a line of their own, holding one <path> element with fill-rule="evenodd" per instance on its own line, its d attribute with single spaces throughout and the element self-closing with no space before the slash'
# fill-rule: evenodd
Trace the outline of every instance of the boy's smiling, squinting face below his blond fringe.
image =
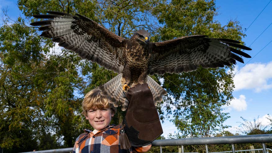
<svg viewBox="0 0 272 153">
<path fill-rule="evenodd" d="M 110 125 L 113 115 L 110 108 L 93 108 L 87 111 L 85 117 L 94 129 L 102 130 Z"/>
</svg>

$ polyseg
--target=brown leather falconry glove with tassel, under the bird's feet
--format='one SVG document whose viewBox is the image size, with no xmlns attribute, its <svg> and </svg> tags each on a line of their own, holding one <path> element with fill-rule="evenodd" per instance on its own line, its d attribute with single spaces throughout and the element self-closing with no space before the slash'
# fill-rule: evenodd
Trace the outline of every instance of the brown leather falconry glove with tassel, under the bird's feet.
<svg viewBox="0 0 272 153">
<path fill-rule="evenodd" d="M 121 135 L 125 132 L 131 146 L 145 146 L 163 133 L 152 93 L 144 83 L 129 88 L 125 96 L 129 105 L 120 130 Z M 120 138 L 121 147 L 125 144 L 122 141 L 124 139 Z M 122 148 L 126 146 L 123 145 Z"/>
</svg>

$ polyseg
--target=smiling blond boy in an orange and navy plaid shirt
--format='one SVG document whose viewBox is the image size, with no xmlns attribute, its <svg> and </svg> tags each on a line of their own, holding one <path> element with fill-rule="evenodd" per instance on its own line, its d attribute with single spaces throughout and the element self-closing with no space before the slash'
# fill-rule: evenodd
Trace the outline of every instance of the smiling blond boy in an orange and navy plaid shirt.
<svg viewBox="0 0 272 153">
<path fill-rule="evenodd" d="M 110 125 L 116 108 L 110 104 L 107 96 L 100 95 L 100 90 L 93 89 L 88 92 L 82 102 L 83 114 L 94 130 L 85 129 L 83 134 L 76 138 L 73 153 L 115 153 L 128 152 L 120 149 L 121 125 Z M 129 152 L 147 152 L 151 144 L 143 147 L 132 147 Z"/>
</svg>

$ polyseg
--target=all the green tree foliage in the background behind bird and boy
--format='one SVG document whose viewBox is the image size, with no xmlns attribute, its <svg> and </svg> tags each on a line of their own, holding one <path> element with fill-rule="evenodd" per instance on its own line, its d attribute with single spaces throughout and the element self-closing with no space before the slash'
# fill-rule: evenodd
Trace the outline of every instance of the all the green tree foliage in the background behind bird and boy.
<svg viewBox="0 0 272 153">
<path fill-rule="evenodd" d="M 62 49 L 52 53 L 50 39 L 28 26 L 32 15 L 46 11 L 79 13 L 129 38 L 146 29 L 151 41 L 185 35 L 208 35 L 241 41 L 238 21 L 221 25 L 213 0 L 18 0 L 24 17 L 0 28 L 0 147 L 7 152 L 72 147 L 84 128 L 81 101 L 89 90 L 116 73 Z M 222 106 L 233 98 L 233 66 L 182 74 L 152 76 L 169 93 L 157 109 L 163 120 L 173 114 L 178 133 L 172 137 L 210 137 L 226 128 Z M 160 81 L 159 81 L 160 80 Z M 118 108 L 112 123 L 122 121 Z M 32 143 L 33 142 L 33 143 Z M 51 144 L 51 145 L 49 145 Z"/>
</svg>

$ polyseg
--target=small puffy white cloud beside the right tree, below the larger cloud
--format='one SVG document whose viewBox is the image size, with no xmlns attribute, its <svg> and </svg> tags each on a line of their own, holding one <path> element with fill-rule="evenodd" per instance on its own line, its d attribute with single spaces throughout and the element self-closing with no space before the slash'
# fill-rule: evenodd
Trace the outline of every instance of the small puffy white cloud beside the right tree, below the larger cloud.
<svg viewBox="0 0 272 153">
<path fill-rule="evenodd" d="M 229 105 L 224 106 L 224 112 L 230 112 L 232 109 L 237 111 L 243 111 L 247 109 L 246 96 L 240 95 L 239 98 L 234 97 L 233 100 L 230 101 Z"/>
</svg>

